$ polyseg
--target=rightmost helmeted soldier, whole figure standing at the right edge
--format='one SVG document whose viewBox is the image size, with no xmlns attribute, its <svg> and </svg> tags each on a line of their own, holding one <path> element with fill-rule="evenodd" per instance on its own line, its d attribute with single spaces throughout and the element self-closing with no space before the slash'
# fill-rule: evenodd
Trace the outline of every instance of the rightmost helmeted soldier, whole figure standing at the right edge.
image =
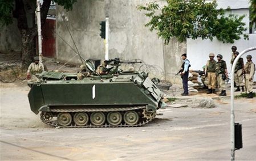
<svg viewBox="0 0 256 161">
<path fill-rule="evenodd" d="M 248 99 L 253 98 L 253 77 L 255 74 L 255 64 L 251 60 L 251 55 L 247 55 L 247 62 L 245 64 L 245 84 L 246 90 L 249 92 Z"/>
</svg>

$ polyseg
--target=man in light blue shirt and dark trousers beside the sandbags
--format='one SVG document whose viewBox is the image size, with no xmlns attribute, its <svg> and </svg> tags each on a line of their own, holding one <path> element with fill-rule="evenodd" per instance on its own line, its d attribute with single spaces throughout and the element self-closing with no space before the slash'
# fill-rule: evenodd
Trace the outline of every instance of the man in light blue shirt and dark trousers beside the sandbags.
<svg viewBox="0 0 256 161">
<path fill-rule="evenodd" d="M 182 78 L 182 85 L 184 88 L 184 92 L 183 94 L 181 94 L 182 96 L 188 96 L 189 92 L 188 92 L 188 76 L 189 76 L 189 60 L 186 58 L 186 53 L 181 55 L 183 63 L 181 65 L 181 70 L 179 71 L 181 78 Z"/>
</svg>

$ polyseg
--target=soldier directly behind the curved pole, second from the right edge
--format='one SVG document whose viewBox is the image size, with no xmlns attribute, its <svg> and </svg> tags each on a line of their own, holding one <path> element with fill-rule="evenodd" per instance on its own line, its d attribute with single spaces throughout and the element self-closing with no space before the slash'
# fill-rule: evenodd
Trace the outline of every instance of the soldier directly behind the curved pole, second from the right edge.
<svg viewBox="0 0 256 161">
<path fill-rule="evenodd" d="M 238 56 L 238 52 L 234 53 L 234 60 Z M 242 91 L 245 91 L 245 84 L 243 83 L 243 73 L 244 73 L 244 65 L 243 65 L 243 58 L 239 58 L 237 64 L 235 65 L 235 73 L 234 73 L 234 79 L 235 84 L 237 85 L 237 90 L 235 92 L 240 91 L 240 87 L 242 87 Z"/>
</svg>

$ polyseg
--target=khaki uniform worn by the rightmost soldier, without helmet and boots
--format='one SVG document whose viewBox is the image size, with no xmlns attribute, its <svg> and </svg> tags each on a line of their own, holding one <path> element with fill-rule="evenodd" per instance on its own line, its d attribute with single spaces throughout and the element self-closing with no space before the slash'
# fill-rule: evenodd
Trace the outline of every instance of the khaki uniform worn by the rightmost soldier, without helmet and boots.
<svg viewBox="0 0 256 161">
<path fill-rule="evenodd" d="M 255 64 L 250 61 L 245 64 L 245 81 L 247 92 L 253 92 L 253 77 L 255 74 Z"/>
</svg>

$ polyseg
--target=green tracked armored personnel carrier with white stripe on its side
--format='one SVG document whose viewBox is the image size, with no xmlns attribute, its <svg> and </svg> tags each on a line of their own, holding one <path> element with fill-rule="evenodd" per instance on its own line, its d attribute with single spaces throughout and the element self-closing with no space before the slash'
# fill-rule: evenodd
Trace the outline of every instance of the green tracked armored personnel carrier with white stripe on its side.
<svg viewBox="0 0 256 161">
<path fill-rule="evenodd" d="M 120 61 L 110 60 L 115 69 L 108 75 L 92 73 L 81 81 L 77 73 L 43 72 L 39 82 L 30 82 L 31 111 L 60 128 L 131 127 L 150 122 L 161 107 L 163 93 L 148 74 L 120 71 Z"/>
</svg>

